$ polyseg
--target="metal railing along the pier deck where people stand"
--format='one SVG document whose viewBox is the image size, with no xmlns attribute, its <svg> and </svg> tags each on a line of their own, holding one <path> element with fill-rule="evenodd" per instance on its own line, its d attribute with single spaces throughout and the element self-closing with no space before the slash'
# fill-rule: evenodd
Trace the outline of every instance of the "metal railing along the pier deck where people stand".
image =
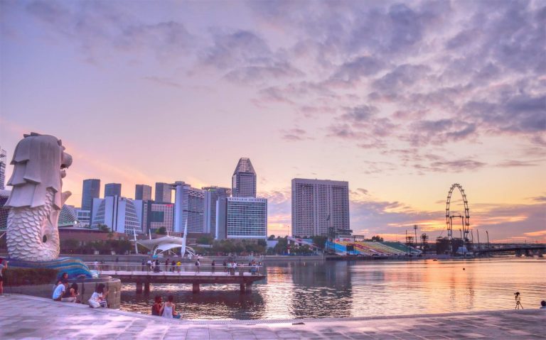
<svg viewBox="0 0 546 340">
<path fill-rule="evenodd" d="M 182 263 L 181 265 L 142 265 L 141 263 L 85 263 L 90 270 L 96 270 L 99 275 L 167 275 L 167 276 L 229 276 L 229 275 L 265 275 L 263 265 L 237 264 L 236 268 L 223 263 L 195 265 Z"/>
</svg>

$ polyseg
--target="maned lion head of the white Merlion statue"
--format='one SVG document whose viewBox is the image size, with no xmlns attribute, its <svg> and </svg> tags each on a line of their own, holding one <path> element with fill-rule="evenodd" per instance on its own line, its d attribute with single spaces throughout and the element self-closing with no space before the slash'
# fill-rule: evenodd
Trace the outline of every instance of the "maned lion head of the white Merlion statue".
<svg viewBox="0 0 546 340">
<path fill-rule="evenodd" d="M 72 156 L 65 153 L 62 141 L 54 136 L 31 133 L 17 144 L 11 165 L 14 172 L 8 181 L 13 186 L 6 207 L 40 207 L 45 204 L 48 188 L 55 192 L 53 206 L 63 207 L 70 192 L 61 192 L 65 168 Z"/>
</svg>

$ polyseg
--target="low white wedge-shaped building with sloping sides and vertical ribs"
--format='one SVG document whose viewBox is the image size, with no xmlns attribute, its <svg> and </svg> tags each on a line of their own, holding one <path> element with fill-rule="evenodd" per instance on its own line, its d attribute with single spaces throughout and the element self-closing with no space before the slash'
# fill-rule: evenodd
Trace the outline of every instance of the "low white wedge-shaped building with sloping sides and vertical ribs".
<svg viewBox="0 0 546 340">
<path fill-rule="evenodd" d="M 142 201 L 120 196 L 93 199 L 92 228 L 106 224 L 111 231 L 132 235 L 142 232 Z"/>
</svg>

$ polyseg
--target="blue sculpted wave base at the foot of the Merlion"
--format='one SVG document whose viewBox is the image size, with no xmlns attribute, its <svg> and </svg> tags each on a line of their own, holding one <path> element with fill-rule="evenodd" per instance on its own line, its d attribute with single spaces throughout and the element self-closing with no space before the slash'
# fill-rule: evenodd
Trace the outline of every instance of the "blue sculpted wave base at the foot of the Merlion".
<svg viewBox="0 0 546 340">
<path fill-rule="evenodd" d="M 58 258 L 52 261 L 21 261 L 6 258 L 9 268 L 50 268 L 58 270 L 59 275 L 68 273 L 69 279 L 92 278 L 91 270 L 79 258 Z"/>
</svg>

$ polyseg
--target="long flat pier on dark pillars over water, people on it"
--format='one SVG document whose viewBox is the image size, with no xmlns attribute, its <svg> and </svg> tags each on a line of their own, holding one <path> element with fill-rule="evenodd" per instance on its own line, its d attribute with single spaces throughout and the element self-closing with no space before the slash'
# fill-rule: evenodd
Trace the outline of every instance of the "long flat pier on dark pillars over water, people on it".
<svg viewBox="0 0 546 340">
<path fill-rule="evenodd" d="M 159 265 L 148 268 L 147 265 L 135 263 L 87 263 L 100 275 L 119 278 L 122 283 L 135 283 L 137 293 L 150 291 L 151 283 L 191 284 L 194 293 L 199 292 L 203 284 L 237 284 L 241 292 L 252 290 L 252 285 L 267 278 L 265 270 L 258 265 L 237 265 L 227 268 L 223 265 Z"/>
</svg>

